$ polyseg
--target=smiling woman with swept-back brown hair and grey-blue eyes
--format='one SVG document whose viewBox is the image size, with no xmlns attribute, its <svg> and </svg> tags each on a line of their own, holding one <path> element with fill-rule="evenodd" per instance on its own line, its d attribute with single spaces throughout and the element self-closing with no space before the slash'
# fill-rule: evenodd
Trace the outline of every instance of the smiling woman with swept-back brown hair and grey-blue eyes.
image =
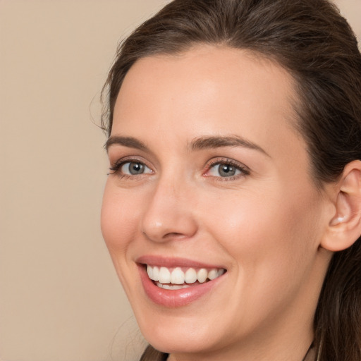
<svg viewBox="0 0 361 361">
<path fill-rule="evenodd" d="M 142 360 L 361 360 L 361 56 L 326 0 L 176 0 L 109 74 L 102 232 Z"/>
</svg>

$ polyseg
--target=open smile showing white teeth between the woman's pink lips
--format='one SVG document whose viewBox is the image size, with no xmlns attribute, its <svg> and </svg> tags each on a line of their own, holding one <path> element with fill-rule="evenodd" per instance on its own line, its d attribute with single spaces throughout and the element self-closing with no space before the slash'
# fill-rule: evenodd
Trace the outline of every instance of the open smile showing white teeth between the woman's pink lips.
<svg viewBox="0 0 361 361">
<path fill-rule="evenodd" d="M 193 267 L 159 267 L 145 265 L 147 274 L 154 284 L 166 290 L 180 290 L 200 283 L 207 283 L 225 273 L 226 269 L 206 269 Z"/>
</svg>

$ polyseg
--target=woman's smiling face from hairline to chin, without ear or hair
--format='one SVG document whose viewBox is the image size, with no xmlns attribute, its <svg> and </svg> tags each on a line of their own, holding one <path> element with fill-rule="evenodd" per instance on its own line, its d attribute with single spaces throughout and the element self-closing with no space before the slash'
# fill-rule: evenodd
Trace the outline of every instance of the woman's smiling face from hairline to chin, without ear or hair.
<svg viewBox="0 0 361 361">
<path fill-rule="evenodd" d="M 140 59 L 126 75 L 102 232 L 154 347 L 312 339 L 326 212 L 293 99 L 283 68 L 224 47 Z"/>
</svg>

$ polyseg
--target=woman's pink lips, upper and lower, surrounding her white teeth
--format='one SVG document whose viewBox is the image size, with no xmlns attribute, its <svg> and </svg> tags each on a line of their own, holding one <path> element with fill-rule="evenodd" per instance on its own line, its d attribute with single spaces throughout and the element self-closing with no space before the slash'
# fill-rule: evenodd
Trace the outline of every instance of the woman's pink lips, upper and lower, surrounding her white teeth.
<svg viewBox="0 0 361 361">
<path fill-rule="evenodd" d="M 140 280 L 142 281 L 142 286 L 145 290 L 145 293 L 157 305 L 164 307 L 181 307 L 194 302 L 209 293 L 218 283 L 223 279 L 223 276 L 220 276 L 213 281 L 208 281 L 205 283 L 196 283 L 194 286 L 190 285 L 188 288 L 183 288 L 181 290 L 166 290 L 164 288 L 159 288 L 154 284 L 154 281 L 149 279 L 147 271 L 144 264 L 152 265 L 161 265 L 164 267 L 200 267 L 200 268 L 222 268 L 216 267 L 200 262 L 193 262 L 189 259 L 179 259 L 179 258 L 164 258 L 164 257 L 140 257 L 137 259 L 138 269 L 140 272 Z"/>
</svg>

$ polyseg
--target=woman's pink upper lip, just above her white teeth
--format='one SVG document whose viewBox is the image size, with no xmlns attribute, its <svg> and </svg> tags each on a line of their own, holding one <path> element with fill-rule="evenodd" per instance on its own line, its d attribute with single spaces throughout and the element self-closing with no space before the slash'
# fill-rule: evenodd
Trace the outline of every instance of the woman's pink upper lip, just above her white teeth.
<svg viewBox="0 0 361 361">
<path fill-rule="evenodd" d="M 138 257 L 135 262 L 139 264 L 148 264 L 149 266 L 162 266 L 167 268 L 173 267 L 193 267 L 193 268 L 207 268 L 207 269 L 225 269 L 219 264 L 208 264 L 187 258 L 178 257 L 164 257 L 159 255 L 144 255 Z"/>
</svg>

